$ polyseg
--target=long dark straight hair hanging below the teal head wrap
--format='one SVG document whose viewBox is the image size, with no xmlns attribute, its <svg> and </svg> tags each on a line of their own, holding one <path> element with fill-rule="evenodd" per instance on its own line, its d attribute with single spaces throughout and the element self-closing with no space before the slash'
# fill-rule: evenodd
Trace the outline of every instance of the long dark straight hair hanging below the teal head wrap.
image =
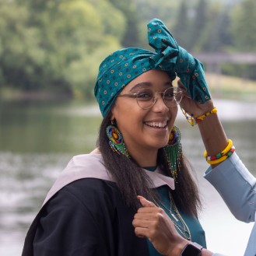
<svg viewBox="0 0 256 256">
<path fill-rule="evenodd" d="M 157 201 L 156 191 L 151 189 L 153 181 L 142 171 L 142 167 L 135 160 L 127 156 L 118 155 L 110 149 L 109 139 L 107 138 L 106 129 L 111 124 L 111 110 L 103 118 L 100 125 L 100 134 L 97 146 L 103 156 L 103 163 L 121 191 L 126 205 L 135 209 L 139 208 L 137 195 L 142 195 L 151 201 Z M 170 176 L 166 158 L 163 149 L 159 149 L 157 163 L 163 170 L 164 174 Z M 188 160 L 183 156 L 181 162 L 181 171 L 177 177 L 175 190 L 172 191 L 174 202 L 183 212 L 198 216 L 198 209 L 201 207 L 198 188 L 195 184 L 190 170 L 188 170 Z"/>
</svg>

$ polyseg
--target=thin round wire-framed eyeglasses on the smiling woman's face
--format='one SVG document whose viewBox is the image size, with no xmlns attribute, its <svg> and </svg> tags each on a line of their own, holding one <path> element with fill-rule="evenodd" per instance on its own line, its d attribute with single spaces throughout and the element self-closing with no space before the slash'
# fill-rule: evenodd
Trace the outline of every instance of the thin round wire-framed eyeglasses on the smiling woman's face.
<svg viewBox="0 0 256 256">
<path fill-rule="evenodd" d="M 153 107 L 156 103 L 156 94 L 160 94 L 162 96 L 163 102 L 167 107 L 176 107 L 181 102 L 183 96 L 182 90 L 179 87 L 170 87 L 160 93 L 156 93 L 149 88 L 143 88 L 140 89 L 138 93 L 119 94 L 118 96 L 136 98 L 139 107 L 146 110 Z"/>
</svg>

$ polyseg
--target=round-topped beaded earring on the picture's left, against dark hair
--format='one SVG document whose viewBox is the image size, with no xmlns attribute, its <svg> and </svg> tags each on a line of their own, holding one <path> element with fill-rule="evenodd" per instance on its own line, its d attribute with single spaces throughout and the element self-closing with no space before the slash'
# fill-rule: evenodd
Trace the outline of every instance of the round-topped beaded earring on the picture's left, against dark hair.
<svg viewBox="0 0 256 256">
<path fill-rule="evenodd" d="M 111 124 L 114 124 L 114 121 L 111 121 Z M 124 155 L 129 158 L 130 155 L 125 147 L 121 132 L 114 125 L 107 126 L 106 132 L 110 140 L 110 148 L 112 151 L 118 155 Z"/>
</svg>

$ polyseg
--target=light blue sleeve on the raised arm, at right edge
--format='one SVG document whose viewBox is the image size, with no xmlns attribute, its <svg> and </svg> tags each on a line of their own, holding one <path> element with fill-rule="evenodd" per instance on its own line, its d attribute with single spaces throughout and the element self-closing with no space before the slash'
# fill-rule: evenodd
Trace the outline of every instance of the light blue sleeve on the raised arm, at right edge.
<svg viewBox="0 0 256 256">
<path fill-rule="evenodd" d="M 214 169 L 209 167 L 204 177 L 219 192 L 233 216 L 246 223 L 254 221 L 256 178 L 236 153 Z"/>
</svg>

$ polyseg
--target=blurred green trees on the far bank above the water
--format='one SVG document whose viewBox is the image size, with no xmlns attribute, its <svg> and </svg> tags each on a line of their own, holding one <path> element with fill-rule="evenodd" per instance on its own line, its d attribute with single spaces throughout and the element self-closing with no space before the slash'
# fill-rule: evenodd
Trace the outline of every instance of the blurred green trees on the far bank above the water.
<svg viewBox="0 0 256 256">
<path fill-rule="evenodd" d="M 107 54 L 152 50 L 146 23 L 153 18 L 188 51 L 256 51 L 254 0 L 0 0 L 0 89 L 89 99 Z M 256 79 L 254 68 L 223 66 Z"/>
</svg>

